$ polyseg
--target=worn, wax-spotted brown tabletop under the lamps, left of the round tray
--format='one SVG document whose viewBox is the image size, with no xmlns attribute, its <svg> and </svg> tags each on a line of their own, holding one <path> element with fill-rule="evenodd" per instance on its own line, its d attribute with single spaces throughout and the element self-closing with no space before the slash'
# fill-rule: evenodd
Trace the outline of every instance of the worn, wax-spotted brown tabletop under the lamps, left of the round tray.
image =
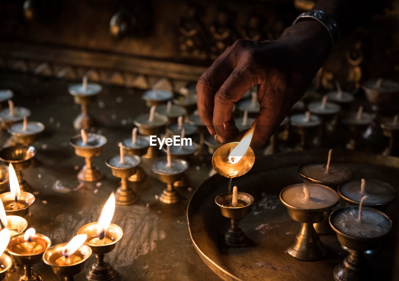
<svg viewBox="0 0 399 281">
<path fill-rule="evenodd" d="M 0 73 L 0 88 L 14 90 L 15 104 L 30 108 L 30 120 L 46 126 L 40 140 L 34 143 L 37 148 L 34 166 L 23 173 L 36 196 L 30 215 L 26 216 L 29 227 L 51 238 L 53 245 L 67 242 L 81 226 L 98 220 L 109 194 L 119 186 L 119 179 L 111 175 L 105 159 L 119 153 L 117 143 L 131 135 L 132 119 L 148 110 L 141 92 L 105 86 L 99 101 L 91 107 L 99 121 L 98 129 L 108 138 L 101 156 L 93 160 L 105 177 L 99 181 L 101 185 L 95 182 L 80 185 L 76 176 L 84 159 L 75 155 L 69 145 L 71 136 L 78 133 L 72 122 L 80 108 L 67 93 L 67 86 L 65 81 Z M 2 131 L 1 143 L 8 137 Z M 139 201 L 132 206 L 116 207 L 113 223 L 123 229 L 124 236 L 115 250 L 106 255 L 106 260 L 122 280 L 201 280 L 204 276 L 209 281 L 218 280 L 195 252 L 185 217 L 188 198 L 207 177 L 210 164 L 201 166 L 199 171 L 197 164 L 192 164 L 188 171 L 190 190 L 179 189 L 184 200 L 169 206 L 155 198 L 166 185 L 151 172 L 150 162 L 143 159 L 142 166 L 148 174 L 146 181 L 136 186 L 130 183 Z M 210 163 L 210 156 L 205 163 Z M 85 273 L 94 261 L 93 255 L 75 279 L 85 280 Z M 35 265 L 35 270 L 44 280 L 61 280 L 43 262 Z M 14 281 L 19 274 L 12 273 L 5 280 Z"/>
</svg>

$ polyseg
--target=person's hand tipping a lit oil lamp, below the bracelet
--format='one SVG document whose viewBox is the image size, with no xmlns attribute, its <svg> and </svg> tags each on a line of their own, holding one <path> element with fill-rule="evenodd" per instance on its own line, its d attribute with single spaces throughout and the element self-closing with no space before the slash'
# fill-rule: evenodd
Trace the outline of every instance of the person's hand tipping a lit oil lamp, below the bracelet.
<svg viewBox="0 0 399 281">
<path fill-rule="evenodd" d="M 310 86 L 331 41 L 316 21 L 298 22 L 277 40 L 237 40 L 197 83 L 198 111 L 211 135 L 237 135 L 233 104 L 257 85 L 260 104 L 252 145 L 263 145 Z"/>
</svg>

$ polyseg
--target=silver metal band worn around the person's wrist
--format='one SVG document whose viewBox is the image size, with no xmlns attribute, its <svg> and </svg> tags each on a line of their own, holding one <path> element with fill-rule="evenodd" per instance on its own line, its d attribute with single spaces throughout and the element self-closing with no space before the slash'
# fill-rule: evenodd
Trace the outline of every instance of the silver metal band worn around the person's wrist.
<svg viewBox="0 0 399 281">
<path fill-rule="evenodd" d="M 324 13 L 323 11 L 320 10 L 311 10 L 308 12 L 304 12 L 300 14 L 292 23 L 292 25 L 296 24 L 298 20 L 302 18 L 312 18 L 320 22 L 325 28 L 327 29 L 328 33 L 330 34 L 331 41 L 332 41 L 332 48 L 331 51 L 334 51 L 336 47 L 338 46 L 340 40 L 341 40 L 341 33 L 340 29 L 338 28 L 338 25 L 336 21 L 329 16 L 328 14 Z"/>
</svg>

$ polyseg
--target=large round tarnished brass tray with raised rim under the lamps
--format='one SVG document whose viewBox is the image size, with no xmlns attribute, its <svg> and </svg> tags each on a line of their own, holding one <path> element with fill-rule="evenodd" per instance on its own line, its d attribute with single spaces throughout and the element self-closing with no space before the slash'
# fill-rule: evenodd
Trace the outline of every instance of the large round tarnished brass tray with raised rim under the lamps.
<svg viewBox="0 0 399 281">
<path fill-rule="evenodd" d="M 203 261 L 226 280 L 334 280 L 334 267 L 347 255 L 340 249 L 336 234 L 320 236 L 328 248 L 323 259 L 309 262 L 290 257 L 284 250 L 300 224 L 288 216 L 278 197 L 284 187 L 302 182 L 298 165 L 324 162 L 326 155 L 324 150 L 263 157 L 257 154 L 253 169 L 233 179 L 239 191 L 255 197 L 252 211 L 239 224 L 251 240 L 241 249 L 227 248 L 221 242 L 229 220 L 221 215 L 214 199 L 227 191 L 227 179 L 219 175 L 207 179 L 194 193 L 187 209 L 191 238 Z M 332 161 L 352 170 L 355 179 L 379 179 L 398 188 L 399 158 L 334 151 Z M 383 241 L 380 255 L 368 259 L 378 280 L 389 280 L 391 276 L 393 245 L 398 236 L 398 200 L 388 207 L 387 215 L 393 220 L 393 229 Z"/>
</svg>

